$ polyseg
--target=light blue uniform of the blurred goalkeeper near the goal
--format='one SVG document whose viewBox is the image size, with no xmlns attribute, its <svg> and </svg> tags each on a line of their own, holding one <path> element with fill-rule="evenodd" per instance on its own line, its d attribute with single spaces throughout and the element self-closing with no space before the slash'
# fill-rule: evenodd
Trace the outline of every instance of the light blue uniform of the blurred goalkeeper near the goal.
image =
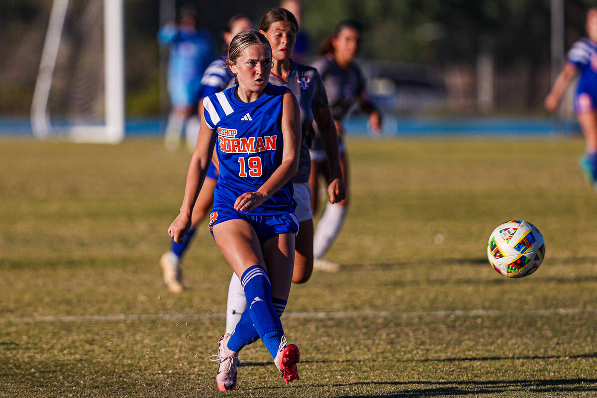
<svg viewBox="0 0 597 398">
<path fill-rule="evenodd" d="M 170 45 L 168 92 L 175 107 L 199 102 L 201 77 L 214 57 L 214 44 L 208 30 L 165 25 L 158 32 L 158 41 Z"/>
</svg>

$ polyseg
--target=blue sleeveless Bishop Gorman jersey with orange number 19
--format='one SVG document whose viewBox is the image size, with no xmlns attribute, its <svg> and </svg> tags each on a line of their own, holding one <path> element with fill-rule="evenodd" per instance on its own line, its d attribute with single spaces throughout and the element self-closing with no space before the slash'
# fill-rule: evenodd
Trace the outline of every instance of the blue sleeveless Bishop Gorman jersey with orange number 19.
<svg viewBox="0 0 597 398">
<path fill-rule="evenodd" d="M 282 163 L 284 139 L 279 129 L 285 87 L 267 84 L 257 100 L 245 103 L 235 97 L 236 87 L 203 100 L 208 127 L 217 132 L 216 151 L 220 177 L 214 190 L 214 211 L 233 209 L 236 198 L 256 192 Z M 293 184 L 288 181 L 251 215 L 294 213 Z"/>
</svg>

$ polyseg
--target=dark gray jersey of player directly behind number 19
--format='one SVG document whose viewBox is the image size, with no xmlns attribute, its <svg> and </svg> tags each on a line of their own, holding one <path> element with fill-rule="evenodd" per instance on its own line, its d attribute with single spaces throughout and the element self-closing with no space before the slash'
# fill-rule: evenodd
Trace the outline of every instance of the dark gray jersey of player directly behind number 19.
<svg viewBox="0 0 597 398">
<path fill-rule="evenodd" d="M 298 161 L 298 172 L 293 178 L 295 183 L 306 183 L 309 181 L 311 170 L 311 159 L 309 147 L 313 140 L 313 117 L 318 110 L 327 106 L 328 97 L 325 94 L 324 82 L 319 76 L 317 69 L 292 61 L 290 70 L 284 78 L 270 73 L 269 82 L 278 86 L 290 88 L 297 97 L 300 107 L 301 121 L 301 147 L 300 159 Z"/>
</svg>

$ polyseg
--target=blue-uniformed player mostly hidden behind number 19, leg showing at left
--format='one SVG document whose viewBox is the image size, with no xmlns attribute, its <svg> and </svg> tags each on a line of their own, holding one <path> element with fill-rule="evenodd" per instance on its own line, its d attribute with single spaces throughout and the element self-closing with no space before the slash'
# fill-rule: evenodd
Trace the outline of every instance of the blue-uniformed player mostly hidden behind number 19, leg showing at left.
<svg viewBox="0 0 597 398">
<path fill-rule="evenodd" d="M 230 41 L 237 33 L 242 30 L 251 29 L 253 23 L 247 17 L 242 14 L 236 14 L 228 21 L 226 32 L 224 32 L 224 55 L 213 61 L 210 66 L 205 69 L 205 73 L 201 79 L 201 90 L 199 91 L 199 97 L 201 100 L 211 94 L 223 91 L 230 80 L 234 79 L 234 75 L 230 72 L 229 67 L 226 66 L 226 60 L 228 59 L 228 46 Z M 203 104 L 199 102 L 199 115 L 203 112 Z M 198 133 L 199 130 L 197 129 Z M 197 143 L 197 134 L 190 134 L 187 132 L 187 142 L 189 145 L 192 144 L 194 147 Z M 214 201 L 214 187 L 218 178 L 219 171 L 214 165 L 210 163 L 210 168 L 207 171 L 207 176 L 199 192 L 195 206 L 193 207 L 192 215 L 192 227 L 189 232 L 182 239 L 182 243 L 174 242 L 171 243 L 170 250 L 165 252 L 160 258 L 159 264 L 162 267 L 162 274 L 164 275 L 164 283 L 168 286 L 168 290 L 173 293 L 180 293 L 183 291 L 184 286 L 182 283 L 182 270 L 181 270 L 181 258 L 189 245 L 193 235 L 195 235 L 195 226 L 199 224 L 211 209 L 211 205 Z"/>
</svg>

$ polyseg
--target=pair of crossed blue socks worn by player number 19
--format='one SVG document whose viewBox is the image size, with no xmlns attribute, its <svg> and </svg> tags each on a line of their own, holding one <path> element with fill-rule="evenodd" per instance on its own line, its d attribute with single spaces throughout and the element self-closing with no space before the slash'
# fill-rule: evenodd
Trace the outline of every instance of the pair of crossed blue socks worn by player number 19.
<svg viewBox="0 0 597 398">
<path fill-rule="evenodd" d="M 240 349 L 246 344 L 253 343 L 257 340 L 255 336 L 257 332 L 272 357 L 276 357 L 284 331 L 272 304 L 272 285 L 267 271 L 260 266 L 251 266 L 242 274 L 241 284 L 245 289 L 248 310 L 242 314 L 241 321 L 230 336 L 232 342 L 228 343 L 228 348 L 238 351 L 235 348 Z M 276 307 L 279 310 L 284 311 L 284 301 L 276 300 Z M 253 328 L 250 328 L 249 320 L 253 323 Z"/>
</svg>

